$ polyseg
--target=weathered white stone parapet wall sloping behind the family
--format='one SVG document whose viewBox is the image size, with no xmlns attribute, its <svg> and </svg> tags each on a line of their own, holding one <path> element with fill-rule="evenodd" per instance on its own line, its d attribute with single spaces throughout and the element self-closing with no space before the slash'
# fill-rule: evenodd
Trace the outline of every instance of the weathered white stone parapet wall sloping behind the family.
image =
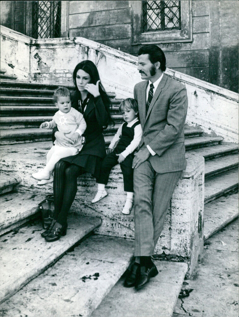
<svg viewBox="0 0 239 317">
<path fill-rule="evenodd" d="M 1 26 L 1 68 L 18 80 L 72 84 L 75 65 L 85 59 L 97 65 L 107 91 L 116 98 L 132 97 L 141 81 L 137 57 L 82 37 L 36 40 Z M 186 86 L 189 125 L 238 143 L 238 94 L 169 68 L 165 73 Z"/>
</svg>

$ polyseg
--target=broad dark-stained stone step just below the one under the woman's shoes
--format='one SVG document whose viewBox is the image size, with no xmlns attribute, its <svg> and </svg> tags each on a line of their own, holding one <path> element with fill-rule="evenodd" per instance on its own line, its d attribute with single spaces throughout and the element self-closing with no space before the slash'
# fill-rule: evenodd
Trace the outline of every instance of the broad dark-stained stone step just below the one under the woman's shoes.
<svg viewBox="0 0 239 317">
<path fill-rule="evenodd" d="M 133 241 L 90 236 L 5 301 L 1 315 L 90 316 L 132 255 Z"/>
</svg>

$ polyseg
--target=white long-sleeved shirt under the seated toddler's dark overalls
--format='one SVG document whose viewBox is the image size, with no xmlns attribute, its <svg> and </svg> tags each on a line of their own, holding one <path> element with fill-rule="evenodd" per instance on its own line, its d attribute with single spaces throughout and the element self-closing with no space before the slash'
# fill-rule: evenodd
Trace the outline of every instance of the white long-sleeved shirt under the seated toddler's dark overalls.
<svg viewBox="0 0 239 317">
<path fill-rule="evenodd" d="M 135 122 L 139 121 L 138 118 L 135 118 L 133 121 L 129 122 L 127 124 L 127 126 L 129 128 L 131 128 L 131 126 L 133 126 L 135 124 Z M 122 135 L 122 126 L 124 123 L 122 123 L 122 125 L 118 128 L 116 134 L 114 135 L 112 141 L 110 142 L 110 149 L 115 149 L 117 146 L 117 143 Z M 134 127 L 134 139 L 130 142 L 130 144 L 126 147 L 126 149 L 120 153 L 121 155 L 123 155 L 124 158 L 126 158 L 130 153 L 133 153 L 134 150 L 136 149 L 136 147 L 139 145 L 140 140 L 142 138 L 142 127 L 141 124 L 138 124 L 137 126 Z"/>
</svg>

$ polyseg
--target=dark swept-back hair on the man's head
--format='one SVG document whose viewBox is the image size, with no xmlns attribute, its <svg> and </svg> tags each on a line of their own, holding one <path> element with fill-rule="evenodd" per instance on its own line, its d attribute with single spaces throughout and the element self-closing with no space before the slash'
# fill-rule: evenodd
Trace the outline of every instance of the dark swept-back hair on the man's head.
<svg viewBox="0 0 239 317">
<path fill-rule="evenodd" d="M 138 56 L 142 54 L 148 54 L 149 60 L 152 64 L 159 61 L 161 71 L 164 72 L 166 70 L 166 58 L 164 52 L 160 49 L 160 47 L 154 44 L 144 45 L 139 49 Z"/>
</svg>

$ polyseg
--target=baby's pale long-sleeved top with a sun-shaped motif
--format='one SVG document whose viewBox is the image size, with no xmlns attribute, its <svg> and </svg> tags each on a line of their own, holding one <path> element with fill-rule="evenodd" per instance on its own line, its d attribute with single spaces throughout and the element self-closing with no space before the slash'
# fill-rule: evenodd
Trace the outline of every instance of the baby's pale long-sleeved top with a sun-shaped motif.
<svg viewBox="0 0 239 317">
<path fill-rule="evenodd" d="M 52 121 L 48 122 L 47 129 L 53 129 L 56 126 L 60 132 L 69 132 L 68 134 L 66 134 L 66 137 L 69 139 L 71 139 L 72 135 L 76 132 L 79 133 L 80 136 L 82 136 L 86 129 L 86 123 L 82 113 L 74 108 L 71 108 L 68 113 L 63 113 L 58 110 L 54 114 Z M 72 146 L 81 147 L 81 143 L 82 138 L 79 138 L 79 141 Z M 59 145 L 57 140 L 55 140 L 54 144 Z"/>
</svg>

